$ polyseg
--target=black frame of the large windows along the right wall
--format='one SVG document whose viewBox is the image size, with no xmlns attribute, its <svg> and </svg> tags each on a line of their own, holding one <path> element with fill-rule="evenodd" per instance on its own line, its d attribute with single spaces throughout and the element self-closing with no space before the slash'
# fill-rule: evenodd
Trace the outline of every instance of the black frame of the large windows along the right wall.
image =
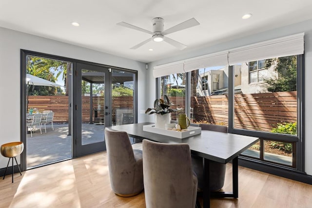
<svg viewBox="0 0 312 208">
<path fill-rule="evenodd" d="M 277 164 L 272 161 L 259 160 L 258 158 L 252 158 L 245 155 L 240 155 L 239 165 L 268 172 L 271 174 L 279 175 L 286 178 L 292 178 L 294 180 L 302 181 L 311 184 L 311 178 L 306 176 L 305 173 L 305 82 L 304 82 L 304 54 L 297 55 L 297 135 L 285 135 L 285 134 L 274 134 L 270 132 L 257 132 L 251 130 L 234 129 L 234 67 L 229 66 L 229 126 L 228 132 L 240 135 L 248 135 L 259 137 L 262 140 L 273 140 L 273 141 L 284 141 L 293 144 L 293 159 L 295 160 L 294 166 L 287 166 L 283 164 Z M 198 69 L 197 69 L 198 70 Z M 191 72 L 186 73 L 189 77 Z M 186 80 L 186 86 L 190 85 L 190 79 Z M 189 97 L 189 89 L 186 88 L 186 98 Z M 156 78 L 156 96 L 160 95 L 160 78 Z M 190 104 L 186 102 L 185 109 L 189 109 Z M 188 112 L 186 112 L 188 113 Z"/>
</svg>

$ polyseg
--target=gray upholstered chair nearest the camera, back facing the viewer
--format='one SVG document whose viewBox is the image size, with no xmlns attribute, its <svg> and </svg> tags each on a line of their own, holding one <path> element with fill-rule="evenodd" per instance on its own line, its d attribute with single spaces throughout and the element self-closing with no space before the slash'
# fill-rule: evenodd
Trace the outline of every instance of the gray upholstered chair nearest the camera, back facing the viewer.
<svg viewBox="0 0 312 208">
<path fill-rule="evenodd" d="M 188 144 L 143 140 L 146 208 L 195 208 L 197 178 Z"/>
</svg>

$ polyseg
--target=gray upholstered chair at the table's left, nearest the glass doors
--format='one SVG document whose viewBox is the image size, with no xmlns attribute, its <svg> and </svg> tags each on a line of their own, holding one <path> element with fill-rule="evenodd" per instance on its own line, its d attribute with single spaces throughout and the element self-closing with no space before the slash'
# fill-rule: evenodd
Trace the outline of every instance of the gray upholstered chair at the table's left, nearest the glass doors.
<svg viewBox="0 0 312 208">
<path fill-rule="evenodd" d="M 105 144 L 111 187 L 118 196 L 128 197 L 143 190 L 142 151 L 133 150 L 127 132 L 105 128 Z"/>
</svg>

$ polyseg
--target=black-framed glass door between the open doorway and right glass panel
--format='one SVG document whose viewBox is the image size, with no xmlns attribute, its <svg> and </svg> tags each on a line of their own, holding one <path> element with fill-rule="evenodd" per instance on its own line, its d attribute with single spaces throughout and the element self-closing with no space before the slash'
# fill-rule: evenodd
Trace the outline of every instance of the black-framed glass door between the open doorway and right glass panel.
<svg viewBox="0 0 312 208">
<path fill-rule="evenodd" d="M 111 126 L 110 71 L 77 63 L 73 88 L 74 157 L 106 150 L 104 129 Z"/>
</svg>

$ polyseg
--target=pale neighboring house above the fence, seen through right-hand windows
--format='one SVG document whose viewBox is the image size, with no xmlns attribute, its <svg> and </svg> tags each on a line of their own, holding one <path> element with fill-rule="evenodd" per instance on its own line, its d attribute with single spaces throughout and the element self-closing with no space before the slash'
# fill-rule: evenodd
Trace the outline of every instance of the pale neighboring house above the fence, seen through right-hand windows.
<svg viewBox="0 0 312 208">
<path fill-rule="evenodd" d="M 275 65 L 265 68 L 265 60 L 234 65 L 234 92 L 242 94 L 267 93 L 265 78 L 278 78 Z M 197 96 L 228 94 L 228 67 L 210 70 L 198 77 Z"/>
</svg>

